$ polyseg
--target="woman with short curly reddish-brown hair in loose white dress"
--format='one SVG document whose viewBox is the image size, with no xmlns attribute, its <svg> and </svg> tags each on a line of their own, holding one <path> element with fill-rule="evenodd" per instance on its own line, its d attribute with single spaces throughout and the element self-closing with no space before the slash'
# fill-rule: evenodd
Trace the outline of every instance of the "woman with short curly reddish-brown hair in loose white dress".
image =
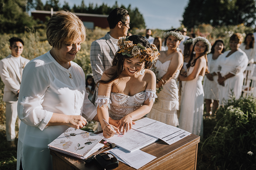
<svg viewBox="0 0 256 170">
<path fill-rule="evenodd" d="M 243 36 L 235 33 L 230 37 L 229 51 L 225 51 L 218 60 L 218 83 L 220 84 L 220 104 L 235 95 L 239 99 L 242 93 L 242 85 L 248 58 L 239 47 L 242 44 Z"/>
</svg>

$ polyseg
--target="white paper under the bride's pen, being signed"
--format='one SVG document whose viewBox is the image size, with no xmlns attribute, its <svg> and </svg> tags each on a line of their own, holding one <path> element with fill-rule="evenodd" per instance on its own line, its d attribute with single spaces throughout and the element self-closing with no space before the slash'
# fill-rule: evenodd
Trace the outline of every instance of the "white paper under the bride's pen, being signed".
<svg viewBox="0 0 256 170">
<path fill-rule="evenodd" d="M 129 152 L 133 152 L 154 143 L 158 138 L 131 129 L 126 132 L 125 135 L 119 136 L 115 134 L 113 137 L 109 139 L 103 138 L 103 140 L 109 143 L 114 143 L 118 147 L 122 147 Z"/>
</svg>

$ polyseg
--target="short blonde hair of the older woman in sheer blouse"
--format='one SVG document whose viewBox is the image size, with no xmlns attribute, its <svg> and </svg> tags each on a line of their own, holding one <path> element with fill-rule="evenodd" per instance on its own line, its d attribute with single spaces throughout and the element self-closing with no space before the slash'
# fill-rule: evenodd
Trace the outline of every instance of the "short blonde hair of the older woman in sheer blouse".
<svg viewBox="0 0 256 170">
<path fill-rule="evenodd" d="M 83 22 L 75 14 L 69 11 L 56 12 L 46 27 L 46 37 L 49 44 L 57 49 L 61 48 L 61 43 L 68 43 L 81 38 L 85 41 L 86 30 Z"/>
</svg>

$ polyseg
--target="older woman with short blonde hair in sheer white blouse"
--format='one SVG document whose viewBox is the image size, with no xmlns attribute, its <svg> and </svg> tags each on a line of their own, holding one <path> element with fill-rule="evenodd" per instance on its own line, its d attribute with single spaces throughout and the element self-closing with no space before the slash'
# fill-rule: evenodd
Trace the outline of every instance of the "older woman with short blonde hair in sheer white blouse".
<svg viewBox="0 0 256 170">
<path fill-rule="evenodd" d="M 82 21 L 58 11 L 46 36 L 52 49 L 31 60 L 22 75 L 17 169 L 52 169 L 47 145 L 69 127 L 82 128 L 97 113 L 88 99 L 83 69 L 72 62 L 86 37 Z"/>
</svg>

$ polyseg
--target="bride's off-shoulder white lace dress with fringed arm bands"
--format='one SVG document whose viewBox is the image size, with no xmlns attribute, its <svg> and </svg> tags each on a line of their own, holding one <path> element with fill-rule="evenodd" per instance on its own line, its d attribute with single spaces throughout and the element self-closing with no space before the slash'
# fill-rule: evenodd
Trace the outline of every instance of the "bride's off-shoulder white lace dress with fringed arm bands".
<svg viewBox="0 0 256 170">
<path fill-rule="evenodd" d="M 125 115 L 133 112 L 139 106 L 141 106 L 147 99 L 149 102 L 155 101 L 157 98 L 156 91 L 152 89 L 146 89 L 143 92 L 139 92 L 133 96 L 127 96 L 121 93 L 110 93 L 110 97 L 98 96 L 96 103 L 97 107 L 108 107 L 109 117 L 114 120 L 122 119 Z M 99 123 L 98 131 L 102 130 Z"/>
</svg>

